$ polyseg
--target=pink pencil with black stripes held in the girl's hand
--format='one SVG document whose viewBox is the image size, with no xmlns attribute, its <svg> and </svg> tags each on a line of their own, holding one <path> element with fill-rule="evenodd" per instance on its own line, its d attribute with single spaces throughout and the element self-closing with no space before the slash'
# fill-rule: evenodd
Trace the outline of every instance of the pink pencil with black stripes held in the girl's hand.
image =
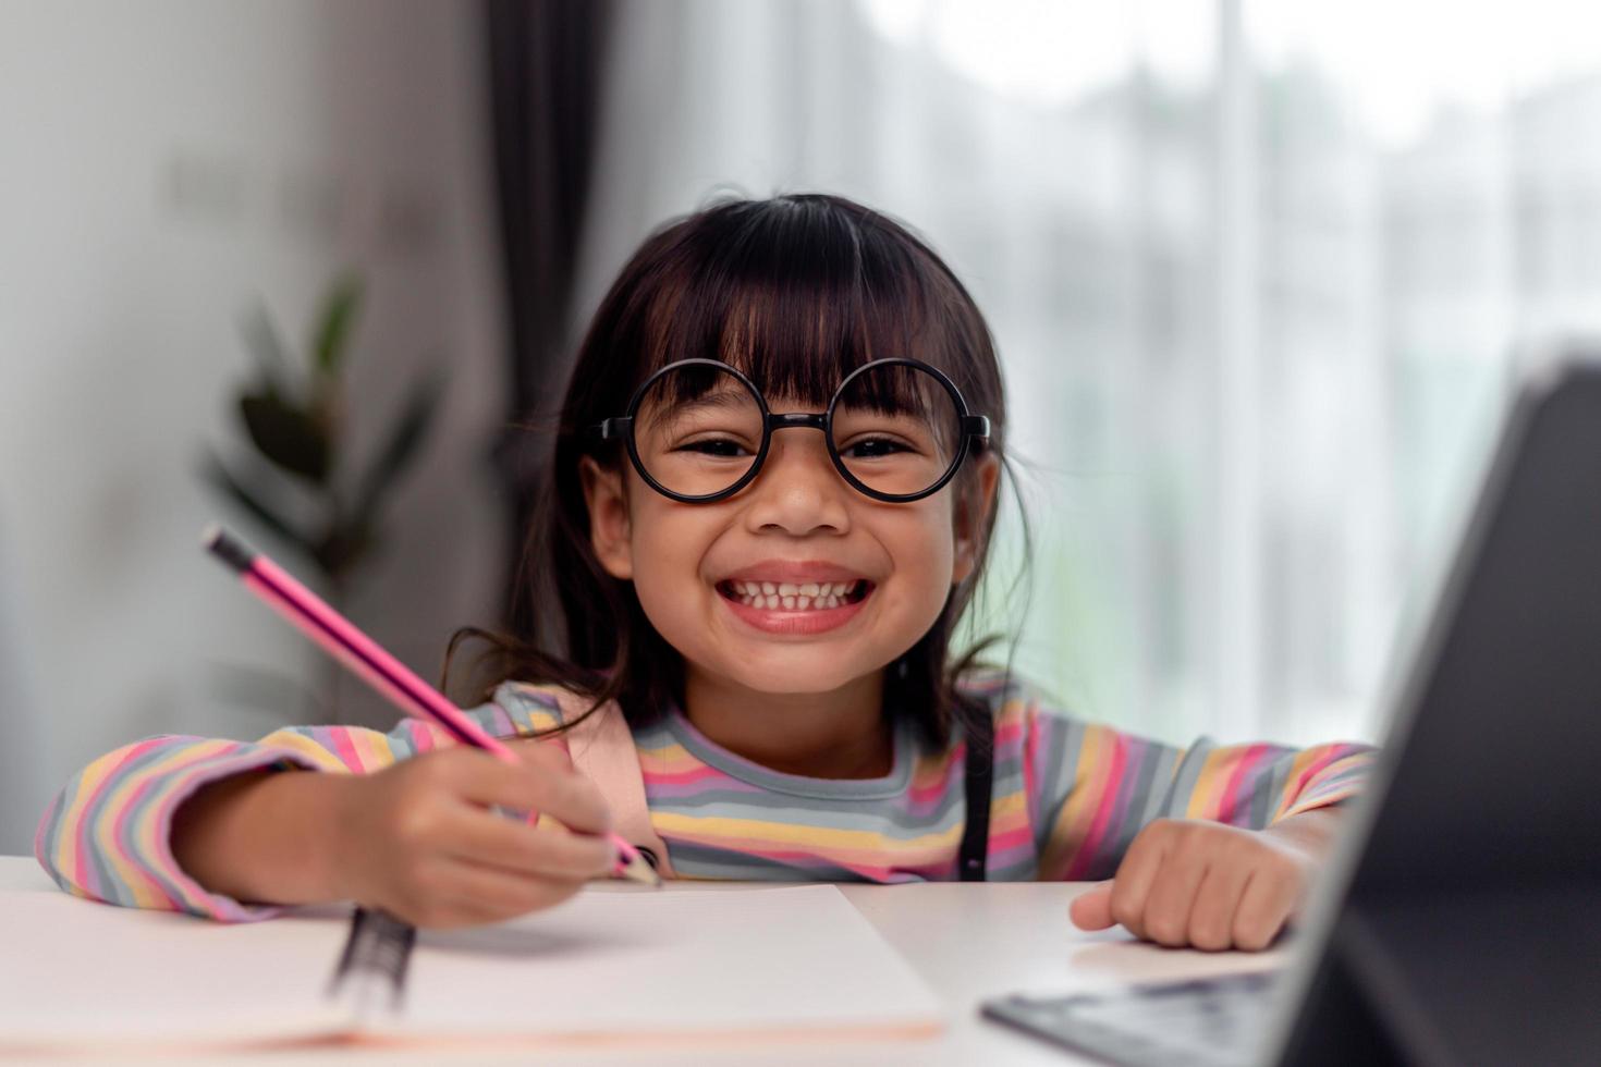
<svg viewBox="0 0 1601 1067">
<path fill-rule="evenodd" d="M 439 725 L 464 745 L 484 749 L 506 763 L 520 763 L 516 752 L 485 733 L 439 689 L 418 678 L 405 664 L 386 653 L 378 641 L 357 630 L 349 619 L 323 603 L 317 593 L 295 581 L 277 563 L 255 552 L 216 523 L 205 528 L 202 544 L 211 555 L 237 571 L 250 592 L 392 701 L 395 707 Z M 661 885 L 661 878 L 656 877 L 655 869 L 637 848 L 616 833 L 608 837 L 618 854 L 615 875 L 645 885 Z"/>
</svg>

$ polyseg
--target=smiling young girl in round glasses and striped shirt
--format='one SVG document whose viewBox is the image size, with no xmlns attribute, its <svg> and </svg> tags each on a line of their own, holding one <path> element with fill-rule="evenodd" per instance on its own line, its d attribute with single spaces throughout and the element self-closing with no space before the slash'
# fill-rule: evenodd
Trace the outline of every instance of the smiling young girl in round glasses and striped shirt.
<svg viewBox="0 0 1601 1067">
<path fill-rule="evenodd" d="M 1370 750 L 1167 747 L 954 659 L 1005 427 L 983 317 L 901 226 L 825 195 L 676 221 L 567 389 L 517 590 L 549 632 L 451 640 L 495 641 L 471 715 L 525 765 L 413 720 L 157 736 L 67 782 L 38 861 L 78 896 L 219 920 L 352 899 L 488 923 L 610 869 L 632 776 L 647 816 L 620 829 L 674 877 L 1109 878 L 1079 926 L 1262 949 Z M 597 728 L 623 731 L 612 795 L 568 758 Z"/>
</svg>

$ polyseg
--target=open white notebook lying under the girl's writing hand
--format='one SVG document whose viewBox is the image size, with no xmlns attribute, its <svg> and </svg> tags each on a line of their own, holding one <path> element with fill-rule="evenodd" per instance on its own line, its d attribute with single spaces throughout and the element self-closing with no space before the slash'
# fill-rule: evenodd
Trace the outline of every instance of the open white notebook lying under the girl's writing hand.
<svg viewBox="0 0 1601 1067">
<path fill-rule="evenodd" d="M 298 1043 L 932 1037 L 933 992 L 831 885 L 613 885 L 493 926 L 221 925 L 0 893 L 0 1056 Z M 399 929 L 384 929 L 386 923 Z M 403 966 L 397 966 L 403 965 Z M 395 976 L 399 974 L 399 981 Z"/>
</svg>

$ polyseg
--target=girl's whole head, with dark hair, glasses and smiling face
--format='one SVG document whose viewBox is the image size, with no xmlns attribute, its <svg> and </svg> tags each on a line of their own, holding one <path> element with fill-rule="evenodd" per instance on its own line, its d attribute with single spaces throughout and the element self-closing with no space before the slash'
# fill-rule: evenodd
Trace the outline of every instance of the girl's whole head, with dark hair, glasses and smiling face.
<svg viewBox="0 0 1601 1067">
<path fill-rule="evenodd" d="M 881 443 L 850 421 L 821 421 L 841 467 L 813 421 L 764 421 L 756 448 L 749 434 L 733 450 L 722 442 L 738 434 L 696 430 L 647 440 L 666 451 L 640 454 L 640 387 L 690 360 L 732 366 L 768 414 L 821 413 L 831 402 L 837 414 L 850 398 L 877 414 L 938 414 L 921 397 L 901 403 L 921 386 L 884 395 L 863 387 L 877 378 L 852 386 L 868 363 L 916 360 L 989 432 L 949 485 L 893 504 L 861 494 L 841 469 L 911 496 L 895 486 L 917 480 L 917 456 L 937 453 L 893 434 Z M 661 397 L 687 424 L 684 402 L 717 392 L 674 381 Z M 885 397 L 895 405 L 876 405 Z M 503 645 L 506 667 L 616 699 L 631 723 L 677 704 L 709 739 L 794 773 L 873 769 L 885 745 L 869 734 L 892 721 L 946 744 L 975 713 L 956 688 L 973 653 L 956 654 L 953 632 L 985 566 L 1005 408 L 994 338 L 972 294 L 892 216 L 794 194 L 727 200 L 664 224 L 623 266 L 578 347 L 525 542 L 530 581 L 511 603 L 512 625 L 527 633 Z M 977 422 L 933 426 L 981 435 Z M 725 499 L 684 504 L 640 475 L 652 470 L 680 496 L 716 496 L 749 474 L 738 461 L 757 454 L 762 437 L 764 467 Z M 714 480 L 719 470 L 736 474 Z M 794 606 L 781 600 L 786 582 Z M 887 673 L 897 659 L 905 670 Z"/>
</svg>

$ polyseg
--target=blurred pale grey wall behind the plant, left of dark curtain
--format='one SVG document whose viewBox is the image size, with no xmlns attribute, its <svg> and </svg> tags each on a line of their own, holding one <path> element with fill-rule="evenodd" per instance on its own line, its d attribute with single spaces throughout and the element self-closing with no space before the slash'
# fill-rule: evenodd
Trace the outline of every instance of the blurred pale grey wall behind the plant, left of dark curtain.
<svg viewBox="0 0 1601 1067">
<path fill-rule="evenodd" d="M 205 443 L 242 440 L 226 397 L 256 299 L 303 341 L 333 274 L 367 275 L 359 443 L 448 357 L 443 432 L 351 614 L 429 678 L 455 625 L 493 622 L 484 458 L 503 379 L 477 19 L 423 0 L 0 0 L 0 662 L 18 664 L 0 672 L 0 853 L 26 851 L 101 752 L 301 715 L 221 696 L 219 664 L 320 677 L 199 549 L 213 517 L 272 549 L 194 474 Z M 343 707 L 394 718 L 354 683 Z"/>
</svg>

